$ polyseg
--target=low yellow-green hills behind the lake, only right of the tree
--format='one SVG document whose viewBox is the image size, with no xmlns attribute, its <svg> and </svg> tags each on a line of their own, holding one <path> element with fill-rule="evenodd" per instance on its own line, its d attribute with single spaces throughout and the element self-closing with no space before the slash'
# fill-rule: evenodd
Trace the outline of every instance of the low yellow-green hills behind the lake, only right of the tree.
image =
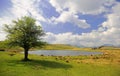
<svg viewBox="0 0 120 76">
<path fill-rule="evenodd" d="M 33 49 L 41 49 L 41 50 L 86 50 L 86 51 L 90 51 L 90 50 L 93 50 L 93 48 L 91 47 L 77 47 L 77 46 L 72 46 L 72 45 L 67 45 L 67 44 L 47 44 L 45 45 L 44 47 L 36 47 L 36 48 L 33 48 Z M 31 50 L 33 50 L 31 49 Z M 97 48 L 98 50 L 99 49 L 105 49 L 105 50 L 118 50 L 120 48 L 117 48 L 117 47 L 113 47 L 113 46 L 101 46 L 101 48 Z"/>
</svg>

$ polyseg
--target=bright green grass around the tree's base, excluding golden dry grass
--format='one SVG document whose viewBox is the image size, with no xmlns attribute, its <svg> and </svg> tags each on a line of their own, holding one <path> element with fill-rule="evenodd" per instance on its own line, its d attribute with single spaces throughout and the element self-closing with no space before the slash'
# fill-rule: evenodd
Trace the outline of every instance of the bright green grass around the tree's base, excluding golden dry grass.
<svg viewBox="0 0 120 76">
<path fill-rule="evenodd" d="M 23 62 L 23 54 L 0 52 L 0 76 L 120 76 L 117 64 L 77 63 L 74 59 L 88 57 L 63 57 L 29 55 L 32 61 Z M 66 59 L 71 58 L 69 62 Z"/>
</svg>

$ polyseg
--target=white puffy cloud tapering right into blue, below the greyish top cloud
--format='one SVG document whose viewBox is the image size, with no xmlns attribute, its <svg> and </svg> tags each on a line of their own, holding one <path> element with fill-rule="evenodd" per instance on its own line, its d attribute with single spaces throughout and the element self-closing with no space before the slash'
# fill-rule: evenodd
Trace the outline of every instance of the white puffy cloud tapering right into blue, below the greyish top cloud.
<svg viewBox="0 0 120 76">
<path fill-rule="evenodd" d="M 57 24 L 59 22 L 66 23 L 70 22 L 77 25 L 80 28 L 89 28 L 90 25 L 86 22 L 86 20 L 80 20 L 78 15 L 73 14 L 72 12 L 62 12 L 58 18 L 52 17 L 52 21 Z"/>
</svg>

